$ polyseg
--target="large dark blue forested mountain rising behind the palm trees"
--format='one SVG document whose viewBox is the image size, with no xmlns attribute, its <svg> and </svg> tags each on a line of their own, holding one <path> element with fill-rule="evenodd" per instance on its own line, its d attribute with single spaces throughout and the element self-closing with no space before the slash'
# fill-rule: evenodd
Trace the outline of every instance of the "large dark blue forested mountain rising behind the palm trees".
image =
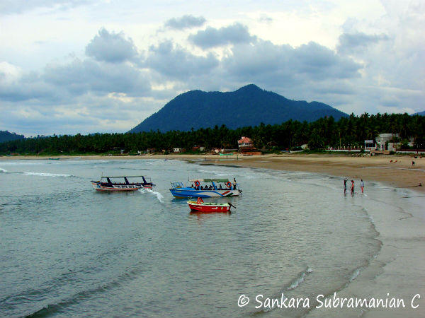
<svg viewBox="0 0 425 318">
<path fill-rule="evenodd" d="M 162 107 L 130 132 L 189 131 L 221 126 L 230 129 L 264 124 L 281 124 L 289 119 L 313 122 L 332 116 L 348 117 L 344 112 L 322 102 L 288 100 L 253 84 L 234 92 L 203 92 L 191 90 Z"/>
</svg>

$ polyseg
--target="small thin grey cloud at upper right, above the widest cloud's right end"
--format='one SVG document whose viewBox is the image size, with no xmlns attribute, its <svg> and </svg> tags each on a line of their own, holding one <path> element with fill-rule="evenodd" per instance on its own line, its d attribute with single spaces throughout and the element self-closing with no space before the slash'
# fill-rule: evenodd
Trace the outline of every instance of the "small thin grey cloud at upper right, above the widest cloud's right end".
<svg viewBox="0 0 425 318">
<path fill-rule="evenodd" d="M 368 47 L 368 45 L 385 40 L 389 40 L 389 37 L 385 34 L 367 35 L 362 32 L 343 33 L 339 36 L 339 45 L 337 49 L 339 53 L 350 54 L 358 50 L 363 50 L 365 47 Z"/>
</svg>

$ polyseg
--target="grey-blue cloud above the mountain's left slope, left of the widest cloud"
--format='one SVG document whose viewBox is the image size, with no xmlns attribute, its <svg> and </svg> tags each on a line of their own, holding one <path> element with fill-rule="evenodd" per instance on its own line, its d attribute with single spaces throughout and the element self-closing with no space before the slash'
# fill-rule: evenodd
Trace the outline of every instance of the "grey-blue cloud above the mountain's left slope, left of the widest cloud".
<svg viewBox="0 0 425 318">
<path fill-rule="evenodd" d="M 149 48 L 145 67 L 169 76 L 184 80 L 191 76 L 209 73 L 219 64 L 214 55 L 196 56 L 182 47 L 175 46 L 171 41 L 164 41 Z"/>
</svg>

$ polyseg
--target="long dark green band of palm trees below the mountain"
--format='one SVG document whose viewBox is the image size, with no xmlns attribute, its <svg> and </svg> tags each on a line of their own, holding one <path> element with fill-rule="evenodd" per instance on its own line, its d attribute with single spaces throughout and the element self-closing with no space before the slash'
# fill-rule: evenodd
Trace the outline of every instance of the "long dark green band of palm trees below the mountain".
<svg viewBox="0 0 425 318">
<path fill-rule="evenodd" d="M 35 137 L 0 143 L 0 153 L 11 154 L 84 154 L 137 153 L 154 148 L 156 151 L 172 151 L 173 148 L 191 150 L 193 146 L 234 148 L 242 136 L 254 141 L 257 149 L 283 150 L 307 143 L 310 149 L 327 146 L 362 146 L 365 140 L 378 134 L 398 134 L 407 144 L 414 139 L 414 148 L 425 148 L 425 117 L 409 114 L 351 114 L 335 121 L 324 117 L 315 122 L 288 120 L 282 124 L 263 124 L 229 129 L 227 126 L 191 129 L 191 131 L 149 131 L 124 134 L 89 134 Z"/>
</svg>

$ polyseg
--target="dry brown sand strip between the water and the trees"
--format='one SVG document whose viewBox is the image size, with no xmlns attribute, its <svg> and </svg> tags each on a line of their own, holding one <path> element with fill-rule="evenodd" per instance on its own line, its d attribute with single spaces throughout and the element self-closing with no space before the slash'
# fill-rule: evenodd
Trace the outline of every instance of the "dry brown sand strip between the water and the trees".
<svg viewBox="0 0 425 318">
<path fill-rule="evenodd" d="M 0 156 L 1 160 L 196 160 L 207 165 L 234 165 L 239 167 L 256 167 L 283 171 L 315 172 L 336 177 L 348 177 L 358 187 L 360 180 L 365 182 L 381 182 L 390 187 L 413 189 L 425 193 L 425 157 L 412 158 L 406 155 L 356 156 L 340 154 L 268 154 L 268 155 L 229 155 L 228 158 L 218 155 L 60 155 L 40 156 Z M 201 160 L 202 163 L 201 163 Z M 415 165 L 412 165 L 414 161 Z M 349 183 L 349 182 L 348 182 Z M 420 185 L 421 184 L 421 185 Z M 341 189 L 343 185 L 341 183 Z"/>
</svg>

